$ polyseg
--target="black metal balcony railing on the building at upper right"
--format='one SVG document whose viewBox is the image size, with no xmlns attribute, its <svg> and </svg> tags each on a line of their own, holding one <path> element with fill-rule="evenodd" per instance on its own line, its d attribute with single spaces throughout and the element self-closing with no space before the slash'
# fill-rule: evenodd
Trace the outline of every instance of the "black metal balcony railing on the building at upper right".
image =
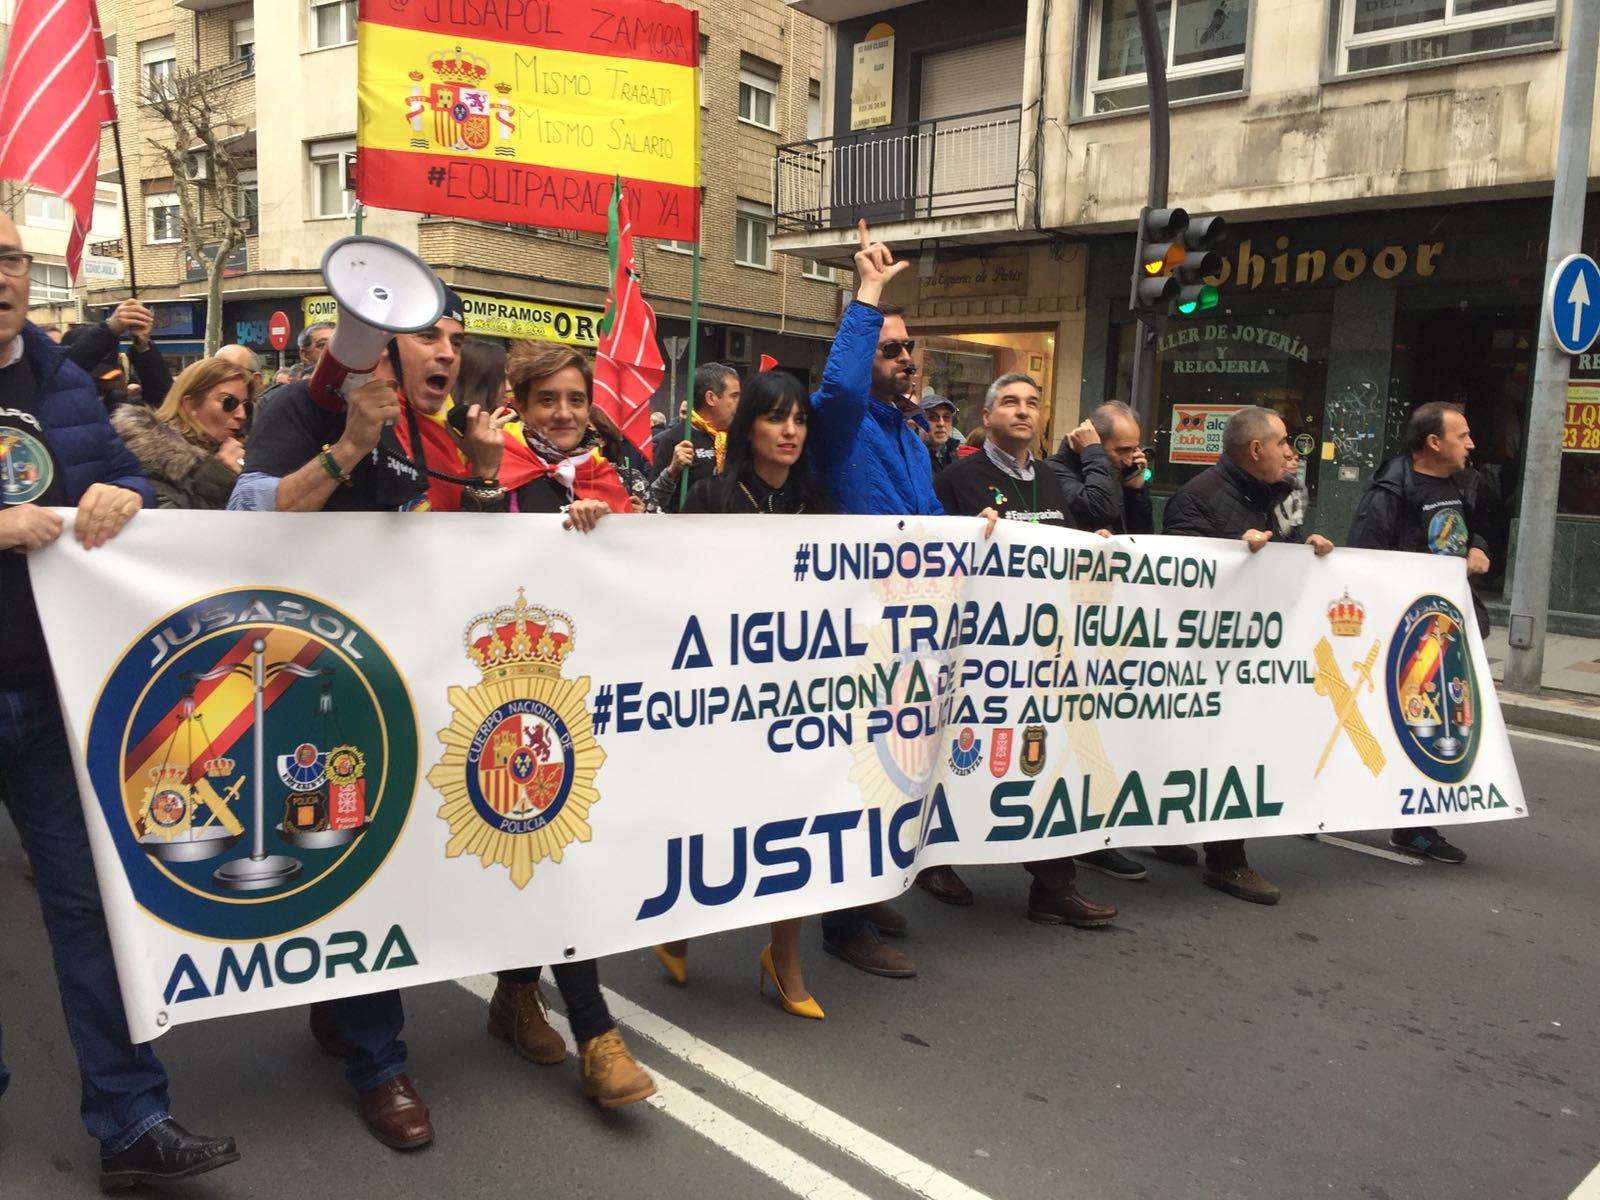
<svg viewBox="0 0 1600 1200">
<path fill-rule="evenodd" d="M 778 229 L 843 229 L 1016 205 L 1019 106 L 778 147 Z"/>
</svg>

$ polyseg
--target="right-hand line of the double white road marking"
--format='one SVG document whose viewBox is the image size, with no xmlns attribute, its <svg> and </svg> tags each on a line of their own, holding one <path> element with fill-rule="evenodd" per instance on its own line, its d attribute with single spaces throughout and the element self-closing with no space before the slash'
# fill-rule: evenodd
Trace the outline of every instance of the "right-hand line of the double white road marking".
<svg viewBox="0 0 1600 1200">
<path fill-rule="evenodd" d="M 747 1062 L 741 1062 L 733 1054 L 717 1050 L 717 1046 L 694 1037 L 686 1029 L 678 1029 L 666 1018 L 640 1008 L 610 987 L 603 990 L 606 1002 L 611 1005 L 611 1014 L 619 1024 L 650 1038 L 662 1050 L 677 1054 L 685 1062 L 706 1072 L 718 1083 L 725 1083 L 741 1096 L 754 1099 L 797 1128 L 843 1150 L 851 1158 L 870 1166 L 901 1187 L 926 1197 L 926 1200 L 984 1200 L 982 1192 L 973 1190 L 960 1179 L 954 1179 L 898 1146 L 845 1120 L 810 1096 L 803 1096 L 794 1088 L 779 1083 L 771 1075 L 765 1075 Z"/>
</svg>

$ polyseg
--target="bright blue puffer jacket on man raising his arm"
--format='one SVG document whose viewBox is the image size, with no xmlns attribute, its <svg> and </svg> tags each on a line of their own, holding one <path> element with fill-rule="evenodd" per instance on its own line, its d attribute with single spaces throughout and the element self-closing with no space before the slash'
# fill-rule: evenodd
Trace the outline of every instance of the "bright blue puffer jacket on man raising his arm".
<svg viewBox="0 0 1600 1200">
<path fill-rule="evenodd" d="M 840 512 L 941 517 L 928 448 L 894 405 L 872 395 L 883 314 L 851 301 L 813 394 L 808 453 Z"/>
</svg>

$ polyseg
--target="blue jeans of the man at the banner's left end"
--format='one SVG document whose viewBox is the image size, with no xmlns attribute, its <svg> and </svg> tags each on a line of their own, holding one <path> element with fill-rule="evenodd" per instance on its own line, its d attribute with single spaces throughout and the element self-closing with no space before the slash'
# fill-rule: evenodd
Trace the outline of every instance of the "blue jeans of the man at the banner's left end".
<svg viewBox="0 0 1600 1200">
<path fill-rule="evenodd" d="M 117 1154 L 166 1118 L 166 1070 L 128 1038 L 110 934 L 53 683 L 0 690 L 0 803 L 34 864 L 83 1082 L 83 1125 Z M 10 1075 L 0 1064 L 0 1091 Z"/>
</svg>

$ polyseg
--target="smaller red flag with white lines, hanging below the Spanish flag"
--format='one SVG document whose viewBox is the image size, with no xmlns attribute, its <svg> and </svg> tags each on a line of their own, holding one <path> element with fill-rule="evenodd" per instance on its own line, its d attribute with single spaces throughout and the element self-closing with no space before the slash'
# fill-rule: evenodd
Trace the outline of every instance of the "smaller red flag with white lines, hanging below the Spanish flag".
<svg viewBox="0 0 1600 1200">
<path fill-rule="evenodd" d="M 611 294 L 595 346 L 595 405 L 650 458 L 650 397 L 661 387 L 667 366 L 656 346 L 656 314 L 645 302 L 634 272 L 634 221 L 621 178 L 611 184 L 608 221 Z"/>
</svg>

